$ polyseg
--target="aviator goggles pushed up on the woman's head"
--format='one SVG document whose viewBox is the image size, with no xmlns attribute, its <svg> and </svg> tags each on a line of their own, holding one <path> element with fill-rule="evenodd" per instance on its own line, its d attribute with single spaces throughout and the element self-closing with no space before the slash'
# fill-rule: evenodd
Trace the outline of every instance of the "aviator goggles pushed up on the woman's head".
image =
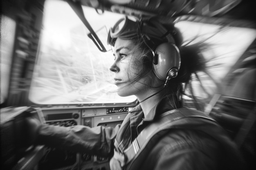
<svg viewBox="0 0 256 170">
<path fill-rule="evenodd" d="M 157 40 L 164 40 L 166 38 L 167 42 L 175 43 L 173 36 L 169 33 L 166 28 L 156 21 L 148 22 L 134 21 L 130 20 L 127 16 L 121 18 L 117 23 L 110 28 L 108 33 L 108 44 L 113 45 L 113 39 L 121 38 L 124 40 L 129 40 L 138 36 L 145 36 L 150 40 L 154 38 Z"/>
</svg>

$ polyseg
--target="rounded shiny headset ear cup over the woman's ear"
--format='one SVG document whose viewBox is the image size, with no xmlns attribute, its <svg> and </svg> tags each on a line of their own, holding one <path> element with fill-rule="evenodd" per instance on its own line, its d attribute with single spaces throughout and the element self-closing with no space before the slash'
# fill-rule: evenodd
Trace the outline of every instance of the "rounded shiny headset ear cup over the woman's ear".
<svg viewBox="0 0 256 170">
<path fill-rule="evenodd" d="M 153 67 L 159 79 L 166 80 L 170 72 L 175 72 L 172 78 L 177 76 L 177 71 L 180 69 L 180 51 L 175 44 L 171 42 L 160 44 L 155 51 L 155 57 L 157 64 L 153 64 Z"/>
</svg>

